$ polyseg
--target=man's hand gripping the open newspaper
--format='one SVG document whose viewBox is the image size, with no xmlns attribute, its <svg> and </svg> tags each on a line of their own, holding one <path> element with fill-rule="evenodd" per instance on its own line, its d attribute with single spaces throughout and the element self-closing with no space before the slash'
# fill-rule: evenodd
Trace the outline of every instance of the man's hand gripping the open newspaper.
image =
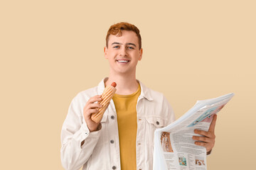
<svg viewBox="0 0 256 170">
<path fill-rule="evenodd" d="M 195 142 L 196 145 L 198 146 L 203 146 L 206 147 L 206 151 L 210 152 L 211 149 L 213 149 L 213 146 L 215 144 L 215 134 L 214 134 L 214 129 L 215 129 L 215 124 L 217 120 L 217 115 L 213 115 L 213 120 L 210 123 L 210 128 L 208 132 L 203 131 L 203 130 L 194 130 L 194 132 L 198 135 L 203 135 L 203 136 L 193 136 L 193 140 L 197 140 Z"/>
</svg>

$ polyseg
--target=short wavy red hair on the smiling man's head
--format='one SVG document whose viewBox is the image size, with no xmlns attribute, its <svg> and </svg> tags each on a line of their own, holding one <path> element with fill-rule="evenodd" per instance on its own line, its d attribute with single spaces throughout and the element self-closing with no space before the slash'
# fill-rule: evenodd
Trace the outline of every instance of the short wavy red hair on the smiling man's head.
<svg viewBox="0 0 256 170">
<path fill-rule="evenodd" d="M 106 36 L 106 46 L 109 41 L 110 34 L 116 35 L 117 37 L 122 36 L 122 30 L 132 30 L 134 33 L 136 33 L 138 40 L 139 40 L 139 50 L 142 48 L 142 37 L 139 34 L 139 29 L 132 25 L 131 23 L 116 23 L 112 26 L 110 26 L 110 29 L 107 31 Z"/>
</svg>

